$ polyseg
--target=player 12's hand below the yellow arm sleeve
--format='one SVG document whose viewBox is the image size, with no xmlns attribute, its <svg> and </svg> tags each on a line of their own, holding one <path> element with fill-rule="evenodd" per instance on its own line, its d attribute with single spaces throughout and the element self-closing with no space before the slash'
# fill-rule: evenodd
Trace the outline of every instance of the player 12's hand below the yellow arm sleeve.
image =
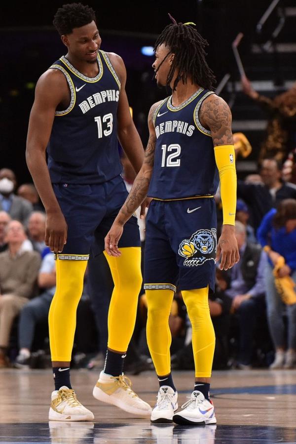
<svg viewBox="0 0 296 444">
<path fill-rule="evenodd" d="M 237 241 L 233 225 L 223 225 L 222 234 L 217 245 L 216 262 L 220 262 L 220 270 L 228 270 L 239 261 Z"/>
</svg>

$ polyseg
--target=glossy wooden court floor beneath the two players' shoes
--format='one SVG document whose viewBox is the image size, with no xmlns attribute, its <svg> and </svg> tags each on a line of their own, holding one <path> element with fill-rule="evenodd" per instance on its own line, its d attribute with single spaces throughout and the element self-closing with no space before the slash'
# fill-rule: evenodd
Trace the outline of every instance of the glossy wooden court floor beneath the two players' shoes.
<svg viewBox="0 0 296 444">
<path fill-rule="evenodd" d="M 94 422 L 62 423 L 47 415 L 52 388 L 50 370 L 0 370 L 0 443 L 296 443 L 296 370 L 213 372 L 211 396 L 216 426 L 150 425 L 92 397 L 98 373 L 74 370 L 79 401 L 93 411 Z M 179 405 L 193 389 L 193 372 L 175 371 Z M 133 389 L 155 404 L 154 372 L 131 377 Z"/>
</svg>

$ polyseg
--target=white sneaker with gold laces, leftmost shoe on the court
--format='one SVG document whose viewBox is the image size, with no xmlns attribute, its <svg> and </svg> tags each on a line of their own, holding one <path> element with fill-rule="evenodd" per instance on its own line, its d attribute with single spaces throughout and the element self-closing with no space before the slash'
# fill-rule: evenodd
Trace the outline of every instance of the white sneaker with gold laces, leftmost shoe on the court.
<svg viewBox="0 0 296 444">
<path fill-rule="evenodd" d="M 80 404 L 74 390 L 65 385 L 51 394 L 50 421 L 92 421 L 93 413 Z"/>
</svg>

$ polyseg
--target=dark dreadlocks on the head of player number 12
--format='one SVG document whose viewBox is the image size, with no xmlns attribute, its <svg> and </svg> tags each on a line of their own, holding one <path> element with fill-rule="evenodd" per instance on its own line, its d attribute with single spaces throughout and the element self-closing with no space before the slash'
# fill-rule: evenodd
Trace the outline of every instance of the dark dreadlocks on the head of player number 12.
<svg viewBox="0 0 296 444">
<path fill-rule="evenodd" d="M 154 51 L 163 43 L 168 46 L 171 53 L 175 54 L 167 77 L 167 86 L 170 85 L 178 68 L 179 74 L 174 81 L 173 90 L 180 80 L 185 83 L 187 77 L 191 78 L 192 83 L 205 89 L 213 89 L 216 83 L 215 76 L 205 59 L 207 53 L 204 48 L 208 45 L 207 40 L 189 24 L 177 23 L 173 17 L 171 19 L 173 23 L 164 28 L 154 45 Z"/>
</svg>

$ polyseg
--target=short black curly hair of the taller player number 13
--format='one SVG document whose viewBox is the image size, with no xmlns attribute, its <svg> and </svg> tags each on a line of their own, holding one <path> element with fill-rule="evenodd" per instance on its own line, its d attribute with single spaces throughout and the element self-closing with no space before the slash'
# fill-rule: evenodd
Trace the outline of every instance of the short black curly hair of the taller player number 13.
<svg viewBox="0 0 296 444">
<path fill-rule="evenodd" d="M 87 4 L 68 3 L 63 4 L 54 16 L 53 24 L 60 36 L 71 34 L 74 28 L 88 25 L 96 21 L 95 11 Z"/>
</svg>

